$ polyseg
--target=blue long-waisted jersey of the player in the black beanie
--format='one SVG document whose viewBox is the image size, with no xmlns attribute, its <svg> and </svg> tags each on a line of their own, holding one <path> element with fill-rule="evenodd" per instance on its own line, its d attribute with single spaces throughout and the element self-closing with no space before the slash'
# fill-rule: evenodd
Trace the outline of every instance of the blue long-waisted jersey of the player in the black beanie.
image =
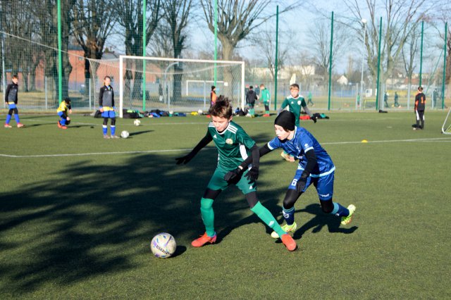
<svg viewBox="0 0 451 300">
<path fill-rule="evenodd" d="M 311 150 L 315 151 L 317 163 L 311 171 L 311 177 L 326 176 L 335 170 L 335 165 L 333 165 L 329 154 L 305 128 L 295 127 L 295 136 L 291 140 L 282 142 L 278 137 L 275 137 L 268 142 L 268 147 L 271 150 L 282 148 L 286 153 L 299 159 L 298 170 L 304 170 L 307 165 L 305 153 Z"/>
</svg>

